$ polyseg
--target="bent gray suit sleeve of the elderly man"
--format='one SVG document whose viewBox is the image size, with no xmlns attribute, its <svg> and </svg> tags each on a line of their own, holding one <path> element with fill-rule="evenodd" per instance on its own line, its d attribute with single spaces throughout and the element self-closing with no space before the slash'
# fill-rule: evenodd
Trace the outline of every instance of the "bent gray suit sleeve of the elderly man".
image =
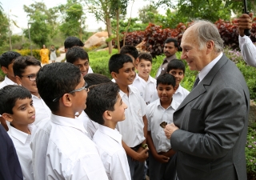
<svg viewBox="0 0 256 180">
<path fill-rule="evenodd" d="M 224 88 L 212 97 L 204 115 L 204 134 L 176 130 L 170 143 L 180 150 L 201 158 L 221 158 L 234 147 L 246 124 L 248 106 L 242 90 Z M 190 117 L 190 120 L 198 117 Z M 243 146 L 243 145 L 241 145 Z"/>
</svg>

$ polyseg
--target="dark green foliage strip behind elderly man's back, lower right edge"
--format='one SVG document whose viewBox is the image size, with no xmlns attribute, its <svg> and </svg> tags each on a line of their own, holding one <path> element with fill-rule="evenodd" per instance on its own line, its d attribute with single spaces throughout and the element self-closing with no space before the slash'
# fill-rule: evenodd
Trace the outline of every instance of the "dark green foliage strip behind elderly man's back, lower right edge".
<svg viewBox="0 0 256 180">
<path fill-rule="evenodd" d="M 256 179 L 256 123 L 248 127 L 246 141 L 246 170 L 248 179 Z"/>
</svg>

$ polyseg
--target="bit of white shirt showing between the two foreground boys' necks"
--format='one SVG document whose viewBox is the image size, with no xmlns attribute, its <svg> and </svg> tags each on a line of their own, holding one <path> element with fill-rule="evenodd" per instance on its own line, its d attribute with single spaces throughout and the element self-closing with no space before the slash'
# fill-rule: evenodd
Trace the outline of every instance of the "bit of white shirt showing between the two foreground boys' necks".
<svg viewBox="0 0 256 180">
<path fill-rule="evenodd" d="M 87 114 L 85 113 L 85 111 L 82 111 L 82 113 L 78 116 L 79 119 L 82 120 L 83 122 L 83 126 L 85 127 L 86 131 L 87 131 L 87 136 L 90 139 L 93 139 L 94 137 L 94 133 L 96 132 L 96 130 L 98 130 L 98 123 L 92 121 Z"/>
</svg>

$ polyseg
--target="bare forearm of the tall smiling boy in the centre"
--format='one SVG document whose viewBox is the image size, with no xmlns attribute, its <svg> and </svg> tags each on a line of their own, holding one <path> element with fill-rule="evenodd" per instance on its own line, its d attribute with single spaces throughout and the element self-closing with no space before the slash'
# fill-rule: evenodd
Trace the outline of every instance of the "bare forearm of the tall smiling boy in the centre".
<svg viewBox="0 0 256 180">
<path fill-rule="evenodd" d="M 126 154 L 128 154 L 131 158 L 133 158 L 136 161 L 144 162 L 146 158 L 149 157 L 147 153 L 148 149 L 142 150 L 141 152 L 138 153 L 132 150 L 129 146 L 126 145 L 126 142 L 123 142 L 123 141 L 122 141 L 122 147 L 123 149 L 126 150 Z"/>
</svg>

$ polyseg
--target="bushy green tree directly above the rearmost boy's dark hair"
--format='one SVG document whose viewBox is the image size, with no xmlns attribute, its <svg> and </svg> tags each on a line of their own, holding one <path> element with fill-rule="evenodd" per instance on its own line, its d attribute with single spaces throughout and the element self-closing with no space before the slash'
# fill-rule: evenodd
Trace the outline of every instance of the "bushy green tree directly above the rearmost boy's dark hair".
<svg viewBox="0 0 256 180">
<path fill-rule="evenodd" d="M 86 29 L 86 16 L 82 5 L 77 0 L 67 0 L 66 5 L 58 6 L 62 14 L 62 24 L 59 27 L 65 37 L 78 36 L 82 40 L 82 33 Z"/>
</svg>

